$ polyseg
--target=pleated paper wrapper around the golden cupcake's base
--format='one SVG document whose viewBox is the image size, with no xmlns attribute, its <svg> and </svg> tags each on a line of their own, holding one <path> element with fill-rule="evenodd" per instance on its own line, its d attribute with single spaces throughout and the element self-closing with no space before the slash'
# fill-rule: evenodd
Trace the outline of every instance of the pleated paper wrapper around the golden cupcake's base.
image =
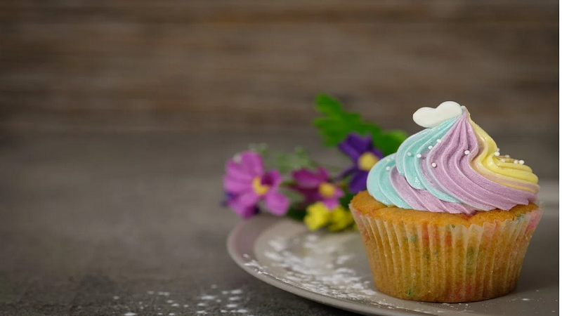
<svg viewBox="0 0 562 316">
<path fill-rule="evenodd" d="M 483 225 L 388 222 L 351 211 L 361 232 L 375 287 L 414 301 L 482 301 L 512 291 L 542 216 Z"/>
</svg>

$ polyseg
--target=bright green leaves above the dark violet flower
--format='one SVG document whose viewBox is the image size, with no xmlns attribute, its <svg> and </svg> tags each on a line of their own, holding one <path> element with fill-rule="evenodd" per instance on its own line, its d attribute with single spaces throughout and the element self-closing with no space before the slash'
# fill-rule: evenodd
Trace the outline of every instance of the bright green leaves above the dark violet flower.
<svg viewBox="0 0 562 316">
<path fill-rule="evenodd" d="M 407 137 L 404 131 L 382 131 L 380 126 L 363 121 L 360 114 L 347 112 L 338 100 L 325 94 L 316 98 L 316 110 L 324 116 L 314 119 L 313 125 L 318 128 L 324 145 L 328 147 L 338 145 L 349 133 L 362 136 L 370 134 L 374 146 L 386 156 L 396 152 Z"/>
</svg>

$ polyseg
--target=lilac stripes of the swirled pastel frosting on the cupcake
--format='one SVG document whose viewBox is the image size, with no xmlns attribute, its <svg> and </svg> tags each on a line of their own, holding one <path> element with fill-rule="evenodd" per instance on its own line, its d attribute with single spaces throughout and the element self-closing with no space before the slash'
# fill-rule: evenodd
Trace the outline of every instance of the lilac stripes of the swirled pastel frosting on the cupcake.
<svg viewBox="0 0 562 316">
<path fill-rule="evenodd" d="M 469 153 L 465 154 L 466 150 Z M 388 170 L 387 176 L 396 195 L 412 209 L 421 211 L 471 214 L 492 209 L 509 210 L 536 199 L 534 192 L 496 183 L 475 171 L 471 161 L 478 155 L 478 150 L 478 138 L 465 110 L 431 150 L 423 152 L 420 158 L 412 157 L 419 159 L 427 185 L 458 202 L 443 201 L 428 190 L 412 187 L 396 166 L 391 166 L 393 162 L 388 162 L 384 168 Z M 381 174 L 381 170 L 373 172 Z"/>
</svg>

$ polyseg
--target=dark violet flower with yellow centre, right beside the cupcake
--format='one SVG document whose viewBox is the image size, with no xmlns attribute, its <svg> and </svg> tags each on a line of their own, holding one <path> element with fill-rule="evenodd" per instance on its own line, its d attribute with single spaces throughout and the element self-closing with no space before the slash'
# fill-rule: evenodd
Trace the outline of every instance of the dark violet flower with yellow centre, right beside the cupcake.
<svg viewBox="0 0 562 316">
<path fill-rule="evenodd" d="M 371 136 L 362 137 L 351 133 L 339 143 L 339 150 L 353 160 L 353 166 L 341 173 L 341 177 L 351 176 L 349 191 L 357 193 L 367 188 L 367 175 L 372 166 L 384 157 L 380 150 L 374 147 Z"/>
</svg>

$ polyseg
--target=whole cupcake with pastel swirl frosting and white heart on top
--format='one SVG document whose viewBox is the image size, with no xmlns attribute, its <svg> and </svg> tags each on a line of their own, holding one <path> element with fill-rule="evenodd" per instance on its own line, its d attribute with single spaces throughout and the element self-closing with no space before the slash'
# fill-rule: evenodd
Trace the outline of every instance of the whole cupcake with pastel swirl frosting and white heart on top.
<svg viewBox="0 0 562 316">
<path fill-rule="evenodd" d="M 414 113 L 423 131 L 375 164 L 350 209 L 374 285 L 460 303 L 508 294 L 542 215 L 538 178 L 454 102 Z"/>
</svg>

